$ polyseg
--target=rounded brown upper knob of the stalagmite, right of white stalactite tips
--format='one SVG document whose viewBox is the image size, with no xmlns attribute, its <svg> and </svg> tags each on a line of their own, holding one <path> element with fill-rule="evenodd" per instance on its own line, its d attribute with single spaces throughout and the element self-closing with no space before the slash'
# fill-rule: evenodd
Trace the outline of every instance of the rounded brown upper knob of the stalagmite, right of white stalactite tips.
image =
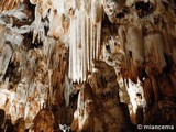
<svg viewBox="0 0 176 132">
<path fill-rule="evenodd" d="M 117 81 L 116 70 L 112 66 L 109 66 L 103 61 L 94 61 L 90 81 L 94 92 L 99 96 L 105 106 L 106 102 L 120 102 L 119 84 Z"/>
</svg>

